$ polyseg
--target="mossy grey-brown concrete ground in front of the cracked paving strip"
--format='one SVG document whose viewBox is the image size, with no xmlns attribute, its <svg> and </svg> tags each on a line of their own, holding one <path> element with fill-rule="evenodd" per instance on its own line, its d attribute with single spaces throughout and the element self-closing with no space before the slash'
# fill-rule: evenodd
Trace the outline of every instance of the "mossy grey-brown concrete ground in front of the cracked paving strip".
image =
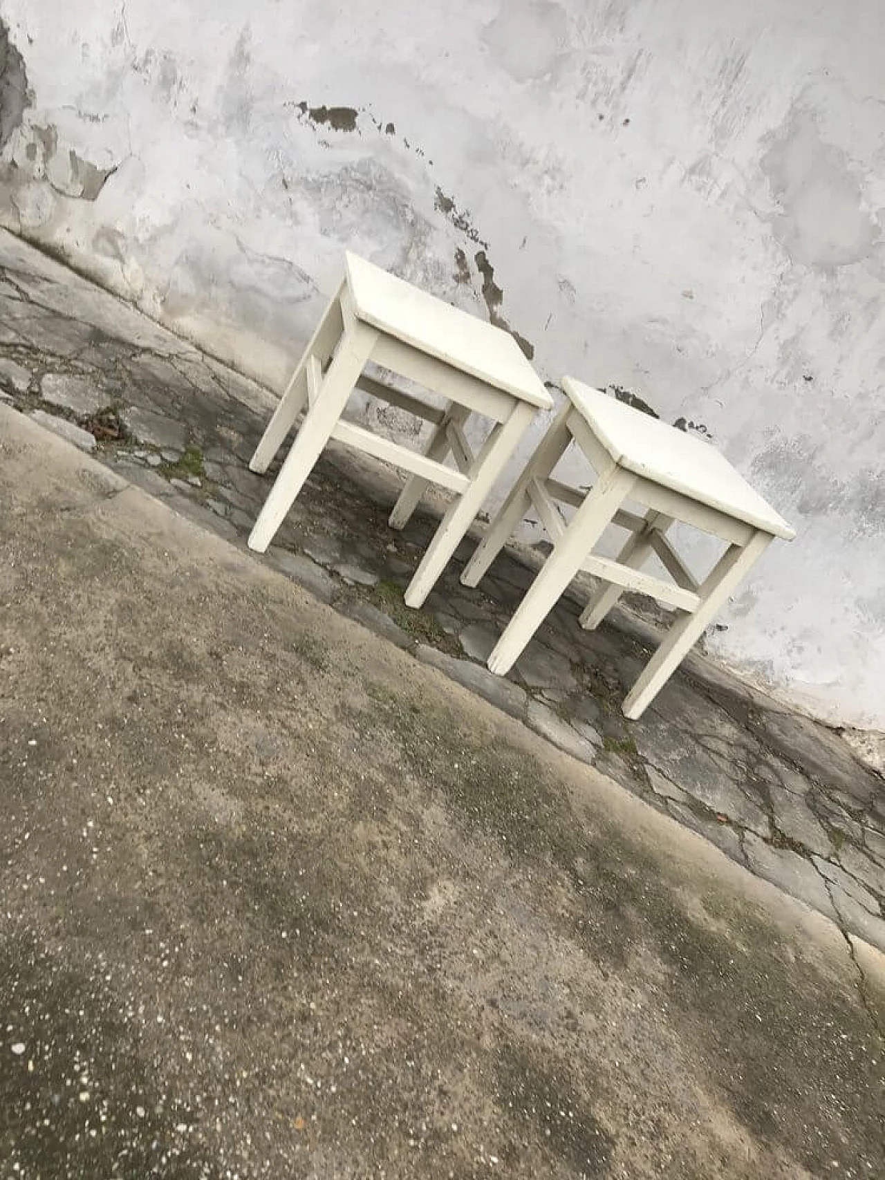
<svg viewBox="0 0 885 1180">
<path fill-rule="evenodd" d="M 883 1174 L 879 952 L 2 406 L 0 498 L 0 1174 Z"/>
</svg>

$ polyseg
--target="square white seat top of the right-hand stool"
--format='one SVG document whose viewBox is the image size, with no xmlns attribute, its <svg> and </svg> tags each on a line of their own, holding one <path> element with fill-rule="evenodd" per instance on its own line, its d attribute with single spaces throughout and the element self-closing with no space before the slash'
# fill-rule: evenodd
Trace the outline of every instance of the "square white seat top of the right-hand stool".
<svg viewBox="0 0 885 1180">
<path fill-rule="evenodd" d="M 563 388 L 620 466 L 774 537 L 795 537 L 784 517 L 709 442 L 575 378 L 564 378 Z"/>
</svg>

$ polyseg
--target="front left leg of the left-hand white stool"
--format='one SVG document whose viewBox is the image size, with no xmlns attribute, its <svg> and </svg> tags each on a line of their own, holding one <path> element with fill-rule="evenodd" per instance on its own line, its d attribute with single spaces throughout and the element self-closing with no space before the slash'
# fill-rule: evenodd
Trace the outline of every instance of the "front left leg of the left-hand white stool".
<svg viewBox="0 0 885 1180">
<path fill-rule="evenodd" d="M 355 326 L 342 336 L 316 401 L 301 424 L 286 463 L 280 468 L 280 474 L 249 535 L 249 549 L 263 553 L 274 539 L 286 513 L 329 441 L 376 340 L 378 332 L 360 321 L 356 321 Z"/>
</svg>

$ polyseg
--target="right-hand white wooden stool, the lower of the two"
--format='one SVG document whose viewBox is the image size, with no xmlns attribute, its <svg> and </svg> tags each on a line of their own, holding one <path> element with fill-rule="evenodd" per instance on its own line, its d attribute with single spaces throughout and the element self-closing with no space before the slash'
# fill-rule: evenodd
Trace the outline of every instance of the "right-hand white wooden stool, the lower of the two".
<svg viewBox="0 0 885 1180">
<path fill-rule="evenodd" d="M 686 611 L 670 627 L 623 703 L 627 716 L 635 720 L 768 543 L 774 537 L 792 540 L 795 533 L 708 442 L 572 378 L 566 376 L 563 387 L 565 405 L 490 524 L 461 582 L 477 585 L 533 505 L 553 549 L 489 657 L 489 667 L 499 675 L 510 670 L 579 570 L 605 583 L 581 616 L 584 628 L 602 622 L 625 589 Z M 596 471 L 597 481 L 588 492 L 551 478 L 571 442 Z M 628 498 L 640 500 L 649 511 L 644 516 L 627 511 L 622 505 Z M 565 520 L 557 500 L 576 509 L 571 520 Z M 727 543 L 700 583 L 666 536 L 674 520 L 684 520 Z M 609 524 L 631 533 L 614 560 L 592 553 Z M 651 552 L 673 583 L 641 572 Z"/>
</svg>

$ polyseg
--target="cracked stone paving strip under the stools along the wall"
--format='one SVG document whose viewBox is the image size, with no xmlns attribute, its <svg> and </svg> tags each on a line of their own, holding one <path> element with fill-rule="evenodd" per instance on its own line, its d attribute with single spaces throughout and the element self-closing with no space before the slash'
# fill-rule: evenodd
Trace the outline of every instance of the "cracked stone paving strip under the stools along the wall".
<svg viewBox="0 0 885 1180">
<path fill-rule="evenodd" d="M 247 463 L 273 396 L 8 234 L 0 235 L 4 395 L 243 545 L 270 484 Z M 399 414 L 367 412 L 381 430 Z M 492 676 L 484 661 L 538 555 L 502 556 L 473 591 L 458 581 L 465 543 L 426 609 L 409 611 L 402 588 L 434 522 L 392 532 L 398 486 L 389 472 L 328 452 L 267 562 L 885 950 L 885 779 L 843 735 L 699 654 L 640 722 L 627 722 L 620 704 L 648 658 L 654 610 L 634 599 L 634 610 L 584 632 L 581 586 L 513 674 Z"/>
</svg>

